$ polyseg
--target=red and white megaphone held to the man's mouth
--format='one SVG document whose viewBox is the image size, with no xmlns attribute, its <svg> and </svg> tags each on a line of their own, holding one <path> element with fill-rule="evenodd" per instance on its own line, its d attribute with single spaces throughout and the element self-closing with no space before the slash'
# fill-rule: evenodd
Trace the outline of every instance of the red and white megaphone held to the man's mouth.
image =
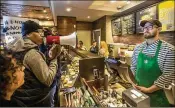
<svg viewBox="0 0 175 108">
<path fill-rule="evenodd" d="M 60 45 L 70 45 L 75 47 L 76 46 L 76 33 L 72 33 L 67 36 L 47 36 L 46 37 L 46 44 L 60 44 Z"/>
</svg>

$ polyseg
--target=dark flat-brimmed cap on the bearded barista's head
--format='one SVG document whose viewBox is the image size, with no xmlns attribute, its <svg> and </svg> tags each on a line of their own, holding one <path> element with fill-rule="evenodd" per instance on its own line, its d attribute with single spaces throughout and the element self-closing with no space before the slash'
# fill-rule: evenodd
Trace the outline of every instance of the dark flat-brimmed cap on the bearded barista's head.
<svg viewBox="0 0 175 108">
<path fill-rule="evenodd" d="M 153 25 L 156 25 L 158 27 L 162 27 L 162 23 L 159 20 L 157 20 L 157 19 L 155 19 L 155 20 L 152 20 L 152 19 L 151 20 L 142 20 L 142 21 L 140 21 L 139 25 L 141 27 L 144 27 L 147 22 L 149 22 L 149 23 L 151 23 Z"/>
</svg>

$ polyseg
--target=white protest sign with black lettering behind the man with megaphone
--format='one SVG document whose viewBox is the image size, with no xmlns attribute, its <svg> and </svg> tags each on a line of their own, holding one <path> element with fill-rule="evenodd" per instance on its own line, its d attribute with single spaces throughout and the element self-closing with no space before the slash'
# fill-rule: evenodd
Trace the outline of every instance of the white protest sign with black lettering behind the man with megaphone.
<svg viewBox="0 0 175 108">
<path fill-rule="evenodd" d="M 39 23 L 37 19 L 3 16 L 5 43 L 9 49 L 17 50 L 15 47 L 22 44 L 21 27 L 22 23 L 27 20 Z"/>
</svg>

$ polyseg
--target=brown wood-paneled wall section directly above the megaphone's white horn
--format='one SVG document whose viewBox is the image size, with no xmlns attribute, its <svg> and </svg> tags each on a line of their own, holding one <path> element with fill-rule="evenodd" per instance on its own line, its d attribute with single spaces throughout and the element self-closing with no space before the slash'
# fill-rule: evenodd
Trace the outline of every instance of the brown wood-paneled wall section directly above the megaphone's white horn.
<svg viewBox="0 0 175 108">
<path fill-rule="evenodd" d="M 59 35 L 69 35 L 76 31 L 76 17 L 57 16 Z"/>
</svg>

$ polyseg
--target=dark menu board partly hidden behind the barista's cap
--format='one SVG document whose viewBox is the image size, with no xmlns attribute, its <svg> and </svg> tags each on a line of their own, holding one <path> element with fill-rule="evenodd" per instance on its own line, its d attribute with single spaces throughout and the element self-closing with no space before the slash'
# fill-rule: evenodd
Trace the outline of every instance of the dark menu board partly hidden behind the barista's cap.
<svg viewBox="0 0 175 108">
<path fill-rule="evenodd" d="M 136 12 L 136 33 L 142 33 L 142 29 L 139 26 L 141 20 L 157 19 L 156 6 L 146 8 L 144 10 Z"/>
</svg>

